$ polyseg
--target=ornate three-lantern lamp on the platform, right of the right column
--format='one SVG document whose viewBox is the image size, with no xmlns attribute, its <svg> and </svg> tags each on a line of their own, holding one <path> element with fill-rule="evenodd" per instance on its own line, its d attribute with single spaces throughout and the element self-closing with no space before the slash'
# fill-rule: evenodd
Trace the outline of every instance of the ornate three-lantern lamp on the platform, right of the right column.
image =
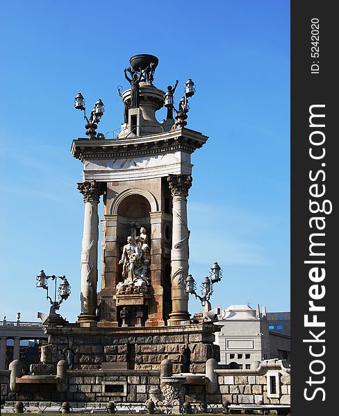
<svg viewBox="0 0 339 416">
<path fill-rule="evenodd" d="M 195 295 L 195 298 L 200 300 L 201 306 L 204 306 L 204 320 L 206 322 L 216 322 L 219 308 L 212 310 L 210 306 L 210 297 L 213 293 L 213 284 L 218 283 L 222 279 L 222 270 L 219 264 L 215 261 L 210 268 L 210 277 L 205 277 L 201 284 L 202 296 L 199 296 L 195 291 L 195 279 L 192 275 L 186 277 L 186 293 Z"/>
</svg>

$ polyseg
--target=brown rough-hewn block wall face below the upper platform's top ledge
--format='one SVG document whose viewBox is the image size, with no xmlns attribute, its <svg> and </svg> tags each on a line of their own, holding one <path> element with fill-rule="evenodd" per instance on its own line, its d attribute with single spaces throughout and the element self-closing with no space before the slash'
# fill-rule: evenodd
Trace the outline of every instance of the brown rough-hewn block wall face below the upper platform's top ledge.
<svg viewBox="0 0 339 416">
<path fill-rule="evenodd" d="M 144 336 L 131 333 L 130 336 L 121 333 L 99 335 L 104 331 L 91 336 L 53 335 L 42 347 L 42 363 L 32 365 L 31 369 L 34 374 L 56 374 L 56 364 L 66 359 L 69 348 L 75 352 L 73 370 L 101 370 L 107 363 L 112 370 L 119 365 L 120 368 L 129 365 L 127 368 L 133 370 L 160 370 L 161 361 L 167 358 L 173 363 L 174 373 L 204 373 L 208 358 L 220 358 L 220 347 L 213 344 L 213 333 L 148 332 Z M 131 346 L 133 356 L 129 352 Z"/>
</svg>

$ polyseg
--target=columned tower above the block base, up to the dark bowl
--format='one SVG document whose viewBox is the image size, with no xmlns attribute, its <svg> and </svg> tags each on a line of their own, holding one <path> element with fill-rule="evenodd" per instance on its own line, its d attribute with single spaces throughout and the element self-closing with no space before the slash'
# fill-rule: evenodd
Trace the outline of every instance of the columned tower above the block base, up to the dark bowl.
<svg viewBox="0 0 339 416">
<path fill-rule="evenodd" d="M 158 58 L 135 55 L 124 70 L 131 88 L 121 93 L 124 123 L 114 139 L 96 134 L 77 139 L 72 154 L 83 162 L 85 220 L 78 322 L 98 327 L 163 327 L 190 324 L 187 197 L 190 155 L 208 137 L 185 127 L 188 80 L 175 110 L 174 87 L 154 85 Z M 167 107 L 159 123 L 156 111 Z M 176 112 L 176 120 L 173 118 Z M 98 203 L 102 195 L 101 291 L 97 295 Z"/>
</svg>

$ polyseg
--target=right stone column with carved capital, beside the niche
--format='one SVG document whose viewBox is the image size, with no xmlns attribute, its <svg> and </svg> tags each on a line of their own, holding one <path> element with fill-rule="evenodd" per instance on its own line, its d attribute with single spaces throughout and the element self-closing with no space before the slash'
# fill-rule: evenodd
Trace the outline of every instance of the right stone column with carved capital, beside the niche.
<svg viewBox="0 0 339 416">
<path fill-rule="evenodd" d="M 180 325 L 190 322 L 188 313 L 188 293 L 185 291 L 185 279 L 188 276 L 188 238 L 187 196 L 192 184 L 191 175 L 169 175 L 167 177 L 172 193 L 172 313 L 169 314 L 169 325 Z"/>
</svg>

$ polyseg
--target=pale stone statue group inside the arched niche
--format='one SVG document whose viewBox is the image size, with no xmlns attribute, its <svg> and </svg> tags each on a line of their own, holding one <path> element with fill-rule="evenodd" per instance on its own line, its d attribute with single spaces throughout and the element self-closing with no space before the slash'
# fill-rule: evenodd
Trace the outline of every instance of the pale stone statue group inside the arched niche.
<svg viewBox="0 0 339 416">
<path fill-rule="evenodd" d="M 117 294 L 144 293 L 150 284 L 149 279 L 149 245 L 144 227 L 140 227 L 140 236 L 136 235 L 133 224 L 131 235 L 127 237 L 127 244 L 122 248 L 123 281 L 117 284 Z"/>
</svg>

